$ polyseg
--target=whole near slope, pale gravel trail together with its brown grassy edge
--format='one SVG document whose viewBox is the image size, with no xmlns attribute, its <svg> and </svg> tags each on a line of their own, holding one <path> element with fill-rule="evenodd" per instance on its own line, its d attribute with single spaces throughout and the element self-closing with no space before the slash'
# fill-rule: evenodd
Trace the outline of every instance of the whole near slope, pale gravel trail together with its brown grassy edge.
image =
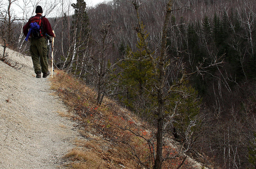
<svg viewBox="0 0 256 169">
<path fill-rule="evenodd" d="M 24 67 L 15 69 L 0 61 L 0 168 L 152 166 L 147 154 L 153 150 L 142 138 L 154 139 L 155 128 L 109 98 L 96 105 L 95 91 L 64 72 L 57 71 L 51 80 L 57 92 L 51 90 L 50 76 L 35 78 L 30 57 L 10 49 L 7 53 L 10 62 Z M 74 110 L 76 114 L 69 116 Z M 207 168 L 179 153 L 180 143 L 166 139 L 164 152 L 171 157 L 164 168 L 180 168 L 183 162 L 181 168 Z"/>
</svg>

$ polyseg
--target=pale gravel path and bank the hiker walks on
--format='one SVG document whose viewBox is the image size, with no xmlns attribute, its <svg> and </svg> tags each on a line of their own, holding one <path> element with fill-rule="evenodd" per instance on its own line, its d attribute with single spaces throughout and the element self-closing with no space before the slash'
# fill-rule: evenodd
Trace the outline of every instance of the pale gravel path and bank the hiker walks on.
<svg viewBox="0 0 256 169">
<path fill-rule="evenodd" d="M 35 78 L 31 57 L 7 53 L 25 67 L 16 70 L 0 61 L 0 168 L 58 168 L 78 132 L 58 115 L 67 108 L 51 95 L 51 76 Z"/>
</svg>

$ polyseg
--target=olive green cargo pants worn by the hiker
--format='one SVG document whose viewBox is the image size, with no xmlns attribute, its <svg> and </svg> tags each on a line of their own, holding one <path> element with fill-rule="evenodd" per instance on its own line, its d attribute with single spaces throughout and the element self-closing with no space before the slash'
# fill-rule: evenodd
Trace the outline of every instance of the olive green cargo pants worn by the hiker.
<svg viewBox="0 0 256 169">
<path fill-rule="evenodd" d="M 35 73 L 41 71 L 42 73 L 48 72 L 47 62 L 47 46 L 46 38 L 31 38 L 30 39 L 30 53 L 34 65 Z"/>
</svg>

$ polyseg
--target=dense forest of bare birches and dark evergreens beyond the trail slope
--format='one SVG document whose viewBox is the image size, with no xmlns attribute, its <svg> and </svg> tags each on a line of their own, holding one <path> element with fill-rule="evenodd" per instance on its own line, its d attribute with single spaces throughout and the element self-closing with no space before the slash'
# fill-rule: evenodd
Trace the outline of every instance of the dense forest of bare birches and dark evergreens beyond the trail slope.
<svg viewBox="0 0 256 169">
<path fill-rule="evenodd" d="M 28 53 L 21 31 L 30 16 L 12 16 L 11 3 L 0 8 L 1 44 Z M 48 17 L 54 66 L 95 88 L 98 104 L 112 97 L 158 128 L 157 147 L 172 137 L 220 168 L 256 168 L 255 1 L 58 5 Z"/>
</svg>

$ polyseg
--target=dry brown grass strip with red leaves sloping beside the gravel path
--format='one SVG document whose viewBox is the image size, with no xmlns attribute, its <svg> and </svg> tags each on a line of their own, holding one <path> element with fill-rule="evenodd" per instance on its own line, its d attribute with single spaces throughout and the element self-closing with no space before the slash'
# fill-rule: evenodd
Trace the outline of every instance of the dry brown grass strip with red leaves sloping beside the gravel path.
<svg viewBox="0 0 256 169">
<path fill-rule="evenodd" d="M 55 72 L 57 74 L 51 80 L 51 89 L 57 90 L 56 94 L 69 106 L 70 112 L 76 112 L 74 116 L 63 112 L 59 114 L 77 122 L 80 135 L 85 138 L 75 140 L 77 147 L 65 156 L 71 161 L 66 166 L 152 168 L 152 151 L 156 149 L 154 128 L 149 130 L 146 123 L 109 98 L 98 106 L 95 91 L 62 71 Z M 151 140 L 154 147 L 146 140 Z M 164 146 L 163 154 L 171 157 L 164 161 L 163 168 L 172 168 L 182 160 L 172 146 Z"/>
</svg>

